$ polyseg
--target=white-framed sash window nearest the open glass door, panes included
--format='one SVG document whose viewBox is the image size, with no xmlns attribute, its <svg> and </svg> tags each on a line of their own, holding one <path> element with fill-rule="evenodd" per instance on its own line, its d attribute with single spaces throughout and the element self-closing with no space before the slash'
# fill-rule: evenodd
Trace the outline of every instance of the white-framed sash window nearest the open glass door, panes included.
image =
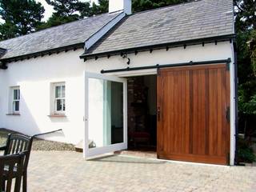
<svg viewBox="0 0 256 192">
<path fill-rule="evenodd" d="M 65 82 L 56 82 L 52 84 L 52 114 L 65 114 Z"/>
</svg>

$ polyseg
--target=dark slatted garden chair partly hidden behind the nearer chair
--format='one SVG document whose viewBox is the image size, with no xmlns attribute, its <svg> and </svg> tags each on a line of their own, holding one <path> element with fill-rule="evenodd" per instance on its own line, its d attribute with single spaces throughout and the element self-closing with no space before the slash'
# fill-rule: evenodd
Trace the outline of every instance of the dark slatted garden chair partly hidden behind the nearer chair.
<svg viewBox="0 0 256 192">
<path fill-rule="evenodd" d="M 34 137 L 27 137 L 22 134 L 8 134 L 6 146 L 0 147 L 4 155 L 23 153 L 25 155 L 22 169 L 22 191 L 26 192 L 27 166 L 30 160 L 30 151 Z"/>
</svg>

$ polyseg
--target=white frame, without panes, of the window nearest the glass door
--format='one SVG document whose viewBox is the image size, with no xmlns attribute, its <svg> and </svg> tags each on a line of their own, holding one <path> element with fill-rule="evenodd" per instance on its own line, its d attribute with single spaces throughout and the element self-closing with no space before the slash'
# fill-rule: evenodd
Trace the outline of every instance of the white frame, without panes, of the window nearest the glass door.
<svg viewBox="0 0 256 192">
<path fill-rule="evenodd" d="M 56 87 L 61 86 L 61 97 L 56 98 Z M 65 95 L 62 96 L 62 87 L 65 87 Z M 66 83 L 65 82 L 53 82 L 52 83 L 52 96 L 51 96 L 51 114 L 65 114 L 66 113 Z M 65 105 L 62 105 L 62 110 L 57 110 L 57 101 L 64 100 Z M 65 106 L 65 109 L 63 109 Z"/>
</svg>

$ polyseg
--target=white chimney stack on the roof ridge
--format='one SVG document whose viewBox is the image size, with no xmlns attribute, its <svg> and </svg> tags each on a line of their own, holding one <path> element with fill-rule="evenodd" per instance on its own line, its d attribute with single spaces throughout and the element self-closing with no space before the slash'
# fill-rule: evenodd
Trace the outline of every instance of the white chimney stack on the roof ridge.
<svg viewBox="0 0 256 192">
<path fill-rule="evenodd" d="M 131 0 L 109 0 L 109 13 L 123 10 L 125 14 L 131 14 Z"/>
</svg>

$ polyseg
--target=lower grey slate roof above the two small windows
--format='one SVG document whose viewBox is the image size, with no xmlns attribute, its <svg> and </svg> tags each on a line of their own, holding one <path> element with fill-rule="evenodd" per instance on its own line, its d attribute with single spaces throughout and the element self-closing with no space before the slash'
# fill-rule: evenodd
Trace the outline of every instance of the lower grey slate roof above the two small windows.
<svg viewBox="0 0 256 192">
<path fill-rule="evenodd" d="M 83 43 L 116 16 L 118 13 L 101 14 L 2 41 L 0 47 L 7 51 L 1 59 Z"/>
</svg>

